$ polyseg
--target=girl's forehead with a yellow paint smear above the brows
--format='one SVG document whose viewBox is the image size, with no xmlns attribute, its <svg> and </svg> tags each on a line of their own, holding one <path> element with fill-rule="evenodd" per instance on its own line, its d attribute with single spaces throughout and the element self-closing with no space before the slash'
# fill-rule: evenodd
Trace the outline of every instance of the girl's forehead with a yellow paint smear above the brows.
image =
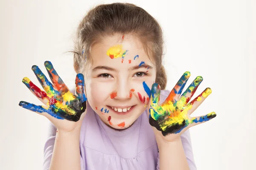
<svg viewBox="0 0 256 170">
<path fill-rule="evenodd" d="M 133 36 L 107 36 L 91 48 L 93 66 L 111 65 L 115 68 L 126 68 L 145 62 L 154 67 L 150 51 L 148 54 L 140 40 Z"/>
</svg>

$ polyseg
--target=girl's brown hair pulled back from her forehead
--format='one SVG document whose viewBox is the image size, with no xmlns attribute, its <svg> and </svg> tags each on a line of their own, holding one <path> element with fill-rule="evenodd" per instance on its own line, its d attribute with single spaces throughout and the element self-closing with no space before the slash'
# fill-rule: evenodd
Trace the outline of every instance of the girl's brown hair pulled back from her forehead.
<svg viewBox="0 0 256 170">
<path fill-rule="evenodd" d="M 142 42 L 147 54 L 150 50 L 157 69 L 155 82 L 165 89 L 162 29 L 154 17 L 131 3 L 100 4 L 84 16 L 76 31 L 74 51 L 71 51 L 76 73 L 85 73 L 91 47 L 103 37 L 114 34 L 134 35 Z"/>
</svg>

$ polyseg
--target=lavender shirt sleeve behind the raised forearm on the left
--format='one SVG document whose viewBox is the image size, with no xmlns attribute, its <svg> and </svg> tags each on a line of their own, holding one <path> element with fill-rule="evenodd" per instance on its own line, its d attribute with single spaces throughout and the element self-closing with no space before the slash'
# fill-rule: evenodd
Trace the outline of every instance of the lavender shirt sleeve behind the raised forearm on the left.
<svg viewBox="0 0 256 170">
<path fill-rule="evenodd" d="M 51 164 L 53 147 L 54 147 L 55 137 L 56 137 L 56 130 L 57 128 L 55 127 L 55 125 L 53 125 L 52 122 L 50 122 L 47 141 L 44 144 L 43 170 L 49 170 L 49 167 Z M 81 162 L 81 170 L 85 170 L 85 163 L 81 154 L 80 154 L 80 162 Z"/>
</svg>

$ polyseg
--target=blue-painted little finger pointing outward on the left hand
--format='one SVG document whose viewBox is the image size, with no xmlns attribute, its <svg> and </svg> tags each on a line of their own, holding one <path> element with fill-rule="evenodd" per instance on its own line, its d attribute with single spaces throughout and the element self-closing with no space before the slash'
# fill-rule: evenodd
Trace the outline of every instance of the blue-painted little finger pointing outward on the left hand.
<svg viewBox="0 0 256 170">
<path fill-rule="evenodd" d="M 58 114 L 55 114 L 54 112 L 52 112 L 51 110 L 48 110 L 46 108 L 43 108 L 43 106 L 38 106 L 38 105 L 34 105 L 32 103 L 29 102 L 24 102 L 24 101 L 20 101 L 19 105 L 25 109 L 28 109 L 30 111 L 36 112 L 38 114 L 41 113 L 48 113 L 49 115 L 57 118 L 57 119 L 64 119 L 61 116 L 59 116 Z M 46 115 L 44 115 L 46 116 Z"/>
</svg>

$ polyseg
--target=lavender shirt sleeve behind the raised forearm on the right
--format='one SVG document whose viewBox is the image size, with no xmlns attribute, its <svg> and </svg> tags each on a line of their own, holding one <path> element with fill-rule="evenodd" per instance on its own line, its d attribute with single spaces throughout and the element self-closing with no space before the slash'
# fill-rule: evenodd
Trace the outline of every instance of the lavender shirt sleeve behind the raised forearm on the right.
<svg viewBox="0 0 256 170">
<path fill-rule="evenodd" d="M 196 165 L 195 165 L 193 150 L 192 150 L 192 144 L 191 144 L 189 129 L 181 134 L 180 139 L 181 139 L 181 143 L 182 143 L 185 155 L 186 155 L 186 159 L 187 159 L 188 164 L 189 164 L 189 169 L 190 170 L 197 170 Z M 160 170 L 159 167 L 160 167 L 160 164 L 159 164 L 159 152 L 158 152 L 157 170 Z"/>
</svg>

